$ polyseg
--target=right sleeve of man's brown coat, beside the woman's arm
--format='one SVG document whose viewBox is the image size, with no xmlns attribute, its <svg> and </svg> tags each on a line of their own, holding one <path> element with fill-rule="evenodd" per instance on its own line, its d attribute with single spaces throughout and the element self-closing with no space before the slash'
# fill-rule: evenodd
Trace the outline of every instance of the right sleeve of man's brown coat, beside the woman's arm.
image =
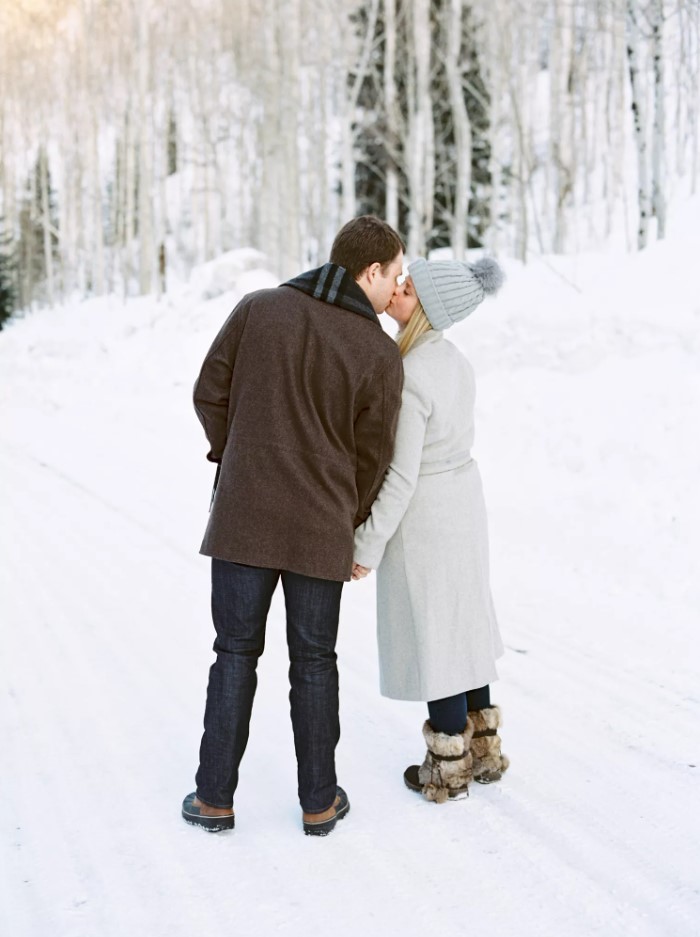
<svg viewBox="0 0 700 937">
<path fill-rule="evenodd" d="M 355 420 L 355 527 L 367 518 L 389 467 L 396 439 L 402 386 L 403 364 L 397 349 L 381 376 L 372 382 L 372 397 Z"/>
</svg>

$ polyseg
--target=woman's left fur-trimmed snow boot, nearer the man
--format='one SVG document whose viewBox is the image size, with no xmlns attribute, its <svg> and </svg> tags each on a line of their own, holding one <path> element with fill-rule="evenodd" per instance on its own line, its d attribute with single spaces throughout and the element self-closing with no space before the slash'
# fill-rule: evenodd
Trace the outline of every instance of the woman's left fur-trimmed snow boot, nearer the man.
<svg viewBox="0 0 700 937">
<path fill-rule="evenodd" d="M 446 800 L 466 797 L 472 779 L 472 755 L 469 745 L 474 723 L 467 718 L 463 732 L 446 735 L 436 732 L 428 720 L 423 725 L 423 738 L 428 746 L 425 761 L 411 765 L 404 772 L 406 787 L 419 791 L 426 800 L 444 804 Z"/>
</svg>

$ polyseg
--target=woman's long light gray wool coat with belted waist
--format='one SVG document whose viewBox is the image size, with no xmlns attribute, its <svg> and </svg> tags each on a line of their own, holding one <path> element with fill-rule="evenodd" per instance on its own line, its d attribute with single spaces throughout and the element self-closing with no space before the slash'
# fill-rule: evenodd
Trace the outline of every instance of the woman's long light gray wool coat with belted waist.
<svg viewBox="0 0 700 937">
<path fill-rule="evenodd" d="M 396 448 L 355 561 L 377 570 L 384 696 L 436 700 L 497 679 L 486 509 L 470 449 L 474 372 L 442 332 L 404 358 Z"/>
</svg>

